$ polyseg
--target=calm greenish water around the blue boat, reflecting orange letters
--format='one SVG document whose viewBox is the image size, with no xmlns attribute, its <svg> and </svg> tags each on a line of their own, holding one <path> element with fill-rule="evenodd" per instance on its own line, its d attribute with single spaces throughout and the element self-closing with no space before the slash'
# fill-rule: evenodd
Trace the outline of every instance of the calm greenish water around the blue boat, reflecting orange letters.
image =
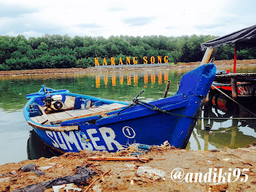
<svg viewBox="0 0 256 192">
<path fill-rule="evenodd" d="M 42 78 L 52 77 L 45 81 L 45 85 L 54 89 L 66 88 L 70 92 L 114 100 L 131 101 L 141 90 L 145 90 L 140 99 L 150 101 L 163 97 L 168 80 L 172 81 L 169 96 L 174 95 L 182 74 L 188 70 L 179 68 L 156 70 L 152 68 L 136 72 L 0 77 L 0 164 L 18 162 L 28 159 L 28 156 L 31 158 L 31 154 L 35 151 L 44 152 L 44 146 L 41 146 L 40 149 L 35 148 L 38 142 L 37 138 L 29 139 L 31 127 L 24 120 L 22 113 L 22 108 L 27 101 L 25 95 L 37 92 L 42 85 Z M 256 72 L 256 68 L 238 67 L 237 70 Z M 240 110 L 240 113 L 243 116 L 248 116 L 244 111 Z M 230 117 L 233 116 L 233 111 L 232 109 L 227 111 L 212 109 L 210 115 Z M 211 124 L 212 130 L 204 131 L 204 124 Z M 256 142 L 255 130 L 256 120 L 246 120 L 246 122 L 241 120 L 233 122 L 232 120 L 198 120 L 187 148 L 210 150 L 222 147 L 246 147 Z M 31 146 L 33 147 L 31 148 Z M 48 155 L 44 154 L 44 156 Z M 40 157 L 40 154 L 36 154 L 34 157 Z"/>
</svg>

